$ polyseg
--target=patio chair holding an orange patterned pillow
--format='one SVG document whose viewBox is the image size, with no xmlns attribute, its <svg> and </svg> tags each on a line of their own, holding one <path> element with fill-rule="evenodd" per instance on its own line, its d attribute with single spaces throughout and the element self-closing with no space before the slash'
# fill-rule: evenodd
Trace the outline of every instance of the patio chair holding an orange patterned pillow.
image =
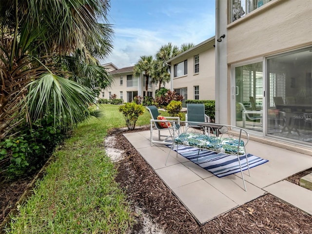
<svg viewBox="0 0 312 234">
<path fill-rule="evenodd" d="M 151 146 L 153 146 L 153 143 L 159 143 L 159 144 L 170 144 L 167 142 L 169 135 L 169 129 L 172 122 L 177 121 L 179 123 L 180 118 L 179 117 L 165 117 L 167 120 L 161 120 L 157 119 L 158 116 L 160 116 L 158 109 L 156 106 L 146 106 L 146 109 L 150 112 L 151 115 Z M 162 123 L 162 124 L 161 124 Z M 153 139 L 153 130 L 158 131 L 158 140 Z M 160 131 L 167 131 L 168 135 L 161 135 Z M 165 137 L 164 140 L 161 140 L 161 137 Z"/>
</svg>

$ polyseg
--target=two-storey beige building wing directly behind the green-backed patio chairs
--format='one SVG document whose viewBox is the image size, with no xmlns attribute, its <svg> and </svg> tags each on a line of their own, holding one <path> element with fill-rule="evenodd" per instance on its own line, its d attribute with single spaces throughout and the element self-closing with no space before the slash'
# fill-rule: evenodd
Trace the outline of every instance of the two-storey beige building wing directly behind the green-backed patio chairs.
<svg viewBox="0 0 312 234">
<path fill-rule="evenodd" d="M 171 90 L 187 99 L 215 100 L 215 37 L 176 57 L 171 65 Z"/>
</svg>

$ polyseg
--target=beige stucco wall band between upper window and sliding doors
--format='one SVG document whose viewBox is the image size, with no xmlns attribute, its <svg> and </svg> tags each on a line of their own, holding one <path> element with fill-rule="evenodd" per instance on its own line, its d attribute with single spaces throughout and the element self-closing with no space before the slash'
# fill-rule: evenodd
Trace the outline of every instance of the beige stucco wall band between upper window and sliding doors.
<svg viewBox="0 0 312 234">
<path fill-rule="evenodd" d="M 273 0 L 227 26 L 228 64 L 312 44 L 312 0 Z"/>
</svg>

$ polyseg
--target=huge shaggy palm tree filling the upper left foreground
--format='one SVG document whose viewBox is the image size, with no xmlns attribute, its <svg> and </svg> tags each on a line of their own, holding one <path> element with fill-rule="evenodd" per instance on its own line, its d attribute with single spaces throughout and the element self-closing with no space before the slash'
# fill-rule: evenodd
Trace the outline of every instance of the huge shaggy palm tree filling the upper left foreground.
<svg viewBox="0 0 312 234">
<path fill-rule="evenodd" d="M 63 124 L 85 116 L 111 78 L 108 0 L 5 0 L 0 4 L 0 139 L 26 117 L 51 111 Z M 52 103 L 52 104 L 51 104 Z M 51 108 L 52 106 L 52 108 Z"/>
</svg>

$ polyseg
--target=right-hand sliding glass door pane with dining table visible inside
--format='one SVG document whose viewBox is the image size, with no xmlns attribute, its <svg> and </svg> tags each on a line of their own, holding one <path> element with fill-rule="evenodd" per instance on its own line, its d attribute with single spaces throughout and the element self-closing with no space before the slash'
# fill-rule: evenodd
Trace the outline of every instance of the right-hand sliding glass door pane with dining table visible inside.
<svg viewBox="0 0 312 234">
<path fill-rule="evenodd" d="M 312 145 L 312 48 L 267 59 L 268 135 Z"/>
</svg>

